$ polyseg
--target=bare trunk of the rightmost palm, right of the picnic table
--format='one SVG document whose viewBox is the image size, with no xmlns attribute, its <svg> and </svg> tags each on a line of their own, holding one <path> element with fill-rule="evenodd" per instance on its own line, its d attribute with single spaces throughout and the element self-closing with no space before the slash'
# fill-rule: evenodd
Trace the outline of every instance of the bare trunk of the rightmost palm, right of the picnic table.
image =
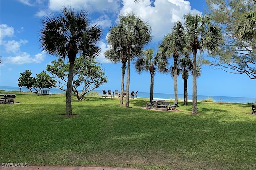
<svg viewBox="0 0 256 170">
<path fill-rule="evenodd" d="M 193 53 L 193 106 L 192 106 L 192 114 L 197 114 L 197 86 L 196 86 L 196 77 L 197 77 L 197 71 L 196 71 L 196 53 L 197 49 L 196 47 L 192 47 L 192 53 Z"/>
</svg>

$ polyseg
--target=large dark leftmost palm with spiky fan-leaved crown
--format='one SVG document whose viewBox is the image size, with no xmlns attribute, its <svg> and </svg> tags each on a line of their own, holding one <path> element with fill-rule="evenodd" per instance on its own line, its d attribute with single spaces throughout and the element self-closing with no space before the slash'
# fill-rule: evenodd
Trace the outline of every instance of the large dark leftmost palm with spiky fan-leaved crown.
<svg viewBox="0 0 256 170">
<path fill-rule="evenodd" d="M 100 48 L 95 44 L 100 40 L 102 31 L 88 21 L 85 10 L 75 12 L 64 7 L 62 13 L 45 16 L 40 30 L 40 43 L 47 53 L 69 60 L 69 72 L 66 91 L 66 115 L 72 115 L 71 94 L 74 62 L 78 53 L 84 57 L 95 58 Z"/>
</svg>

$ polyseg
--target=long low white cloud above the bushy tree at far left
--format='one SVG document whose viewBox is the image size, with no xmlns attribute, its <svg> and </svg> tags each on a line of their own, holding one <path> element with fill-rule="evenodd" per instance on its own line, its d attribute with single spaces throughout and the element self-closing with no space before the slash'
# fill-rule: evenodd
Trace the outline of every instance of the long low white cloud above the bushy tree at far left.
<svg viewBox="0 0 256 170">
<path fill-rule="evenodd" d="M 4 63 L 22 65 L 26 63 L 41 63 L 44 60 L 45 55 L 42 53 L 38 53 L 34 57 L 30 57 L 30 54 L 23 52 L 21 53 L 21 55 L 3 58 Z"/>
</svg>

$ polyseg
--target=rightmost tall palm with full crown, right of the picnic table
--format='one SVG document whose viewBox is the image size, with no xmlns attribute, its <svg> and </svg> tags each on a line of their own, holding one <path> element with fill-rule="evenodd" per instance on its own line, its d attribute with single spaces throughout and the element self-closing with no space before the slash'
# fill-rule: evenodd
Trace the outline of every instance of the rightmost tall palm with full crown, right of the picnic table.
<svg viewBox="0 0 256 170">
<path fill-rule="evenodd" d="M 197 114 L 197 83 L 196 77 L 197 72 L 196 68 L 196 56 L 197 51 L 207 50 L 208 52 L 214 52 L 218 45 L 220 44 L 221 39 L 221 30 L 218 25 L 212 23 L 212 16 L 210 14 L 201 15 L 201 14 L 186 14 L 184 16 L 184 26 L 180 21 L 177 21 L 174 24 L 174 27 L 178 31 L 174 31 L 174 37 L 179 43 L 187 43 L 190 47 L 189 49 L 193 53 L 193 106 L 192 113 Z M 183 41 L 183 39 L 186 41 Z M 183 42 L 182 42 L 183 41 Z"/>
</svg>

